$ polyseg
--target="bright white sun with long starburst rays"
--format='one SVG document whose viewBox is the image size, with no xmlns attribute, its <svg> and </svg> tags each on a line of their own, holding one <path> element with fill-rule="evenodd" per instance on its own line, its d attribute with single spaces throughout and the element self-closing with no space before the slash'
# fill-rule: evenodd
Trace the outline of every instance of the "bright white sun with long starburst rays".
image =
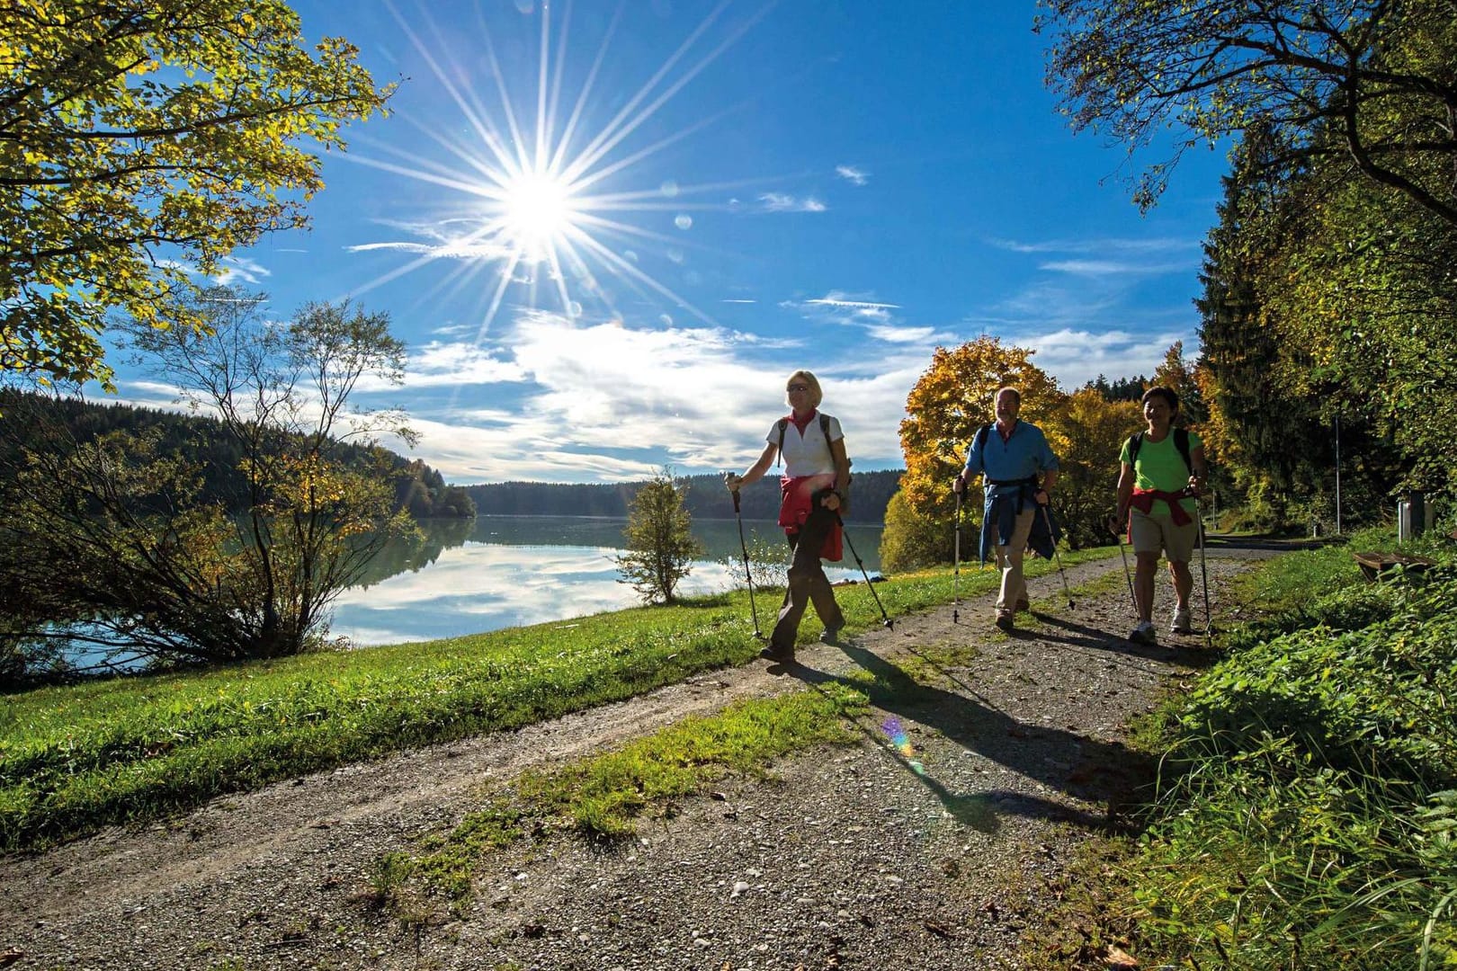
<svg viewBox="0 0 1457 971">
<path fill-rule="evenodd" d="M 484 66 L 494 83 L 495 96 L 478 90 L 469 71 L 450 55 L 452 45 L 440 36 L 439 28 L 423 13 L 424 26 L 417 31 L 401 13 L 390 7 L 402 35 L 440 83 L 462 122 L 455 127 L 418 124 L 427 143 L 443 150 L 433 156 L 393 151 L 395 160 L 370 159 L 358 154 L 351 160 L 395 175 L 459 194 L 436 224 L 430 242 L 424 245 L 380 243 L 369 249 L 405 249 L 420 253 L 404 266 L 396 266 L 361 290 L 398 280 L 439 259 L 456 259 L 459 265 L 447 272 L 425 300 L 441 291 L 452 296 L 476 287 L 481 319 L 476 341 L 485 339 L 495 316 L 513 293 L 522 293 L 533 309 L 541 300 L 555 303 L 559 310 L 576 317 L 586 303 L 600 304 L 612 317 L 621 319 L 613 291 L 621 287 L 643 298 L 666 301 L 675 312 L 682 309 L 712 325 L 712 319 L 656 280 L 638 258 L 627 250 L 628 240 L 661 245 L 669 259 L 682 261 L 682 249 L 694 247 L 689 237 L 650 229 L 651 221 L 634 220 L 634 214 L 678 213 L 678 231 L 692 226 L 688 211 L 727 211 L 727 201 L 714 202 L 711 192 L 723 192 L 730 183 L 679 186 L 667 181 L 657 188 L 622 185 L 644 163 L 667 147 L 739 111 L 734 106 L 712 115 L 691 119 L 676 131 L 660 134 L 648 144 L 624 151 L 631 138 L 657 115 L 676 95 L 715 61 L 768 10 L 761 9 L 727 32 L 727 36 L 701 57 L 691 57 L 731 6 L 718 3 L 708 16 L 675 48 L 660 67 L 651 71 L 635 92 L 627 96 L 609 121 L 596 131 L 584 131 L 590 118 L 592 95 L 610 64 L 609 51 L 624 16 L 619 6 L 609 20 L 592 60 L 586 79 L 576 96 L 565 98 L 568 64 L 568 32 L 573 6 L 565 3 L 561 16 L 554 16 L 549 1 L 533 16 L 539 20 L 539 36 L 533 45 L 536 63 L 519 87 L 535 86 L 533 98 L 517 109 L 522 90 L 513 90 L 508 71 L 498 57 L 484 13 L 478 17 L 481 42 L 475 60 Z M 772 6 L 772 4 L 771 4 Z M 479 7 L 478 7 L 479 10 Z M 430 36 L 425 42 L 421 33 Z M 456 38 L 459 41 L 459 38 Z M 506 49 L 506 48 L 503 48 Z M 487 102 L 494 102 L 488 106 Z M 571 103 L 562 119 L 564 103 Z M 529 121 L 527 121 L 529 119 Z M 449 130 L 446 130 L 449 128 Z M 641 186 L 641 183 L 640 183 Z M 689 197 L 699 197 L 696 199 Z M 622 250 L 622 252 L 619 252 Z M 545 277 L 545 285 L 543 285 Z M 484 285 L 481 285 L 484 284 Z M 664 319 L 666 317 L 664 314 Z"/>
</svg>

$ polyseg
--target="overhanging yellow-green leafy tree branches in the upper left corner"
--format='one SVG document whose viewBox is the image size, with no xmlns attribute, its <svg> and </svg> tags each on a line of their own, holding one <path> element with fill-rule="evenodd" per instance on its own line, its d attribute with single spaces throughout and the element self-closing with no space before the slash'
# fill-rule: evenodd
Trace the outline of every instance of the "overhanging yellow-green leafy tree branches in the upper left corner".
<svg viewBox="0 0 1457 971">
<path fill-rule="evenodd" d="M 0 379 L 109 387 L 115 317 L 203 326 L 159 312 L 306 226 L 318 153 L 392 90 L 281 0 L 0 3 Z"/>
</svg>

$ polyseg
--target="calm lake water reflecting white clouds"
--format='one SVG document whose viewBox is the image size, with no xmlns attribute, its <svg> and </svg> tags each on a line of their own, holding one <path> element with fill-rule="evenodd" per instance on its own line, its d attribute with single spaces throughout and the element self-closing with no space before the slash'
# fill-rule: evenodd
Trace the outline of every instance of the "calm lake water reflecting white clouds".
<svg viewBox="0 0 1457 971">
<path fill-rule="evenodd" d="M 613 558 L 622 553 L 622 518 L 561 515 L 482 515 L 421 524 L 424 540 L 395 543 L 372 563 L 372 572 L 335 601 L 334 636 L 356 645 L 455 638 L 548 620 L 565 620 L 641 603 L 631 585 L 618 582 Z M 695 520 L 694 537 L 704 559 L 679 584 L 680 594 L 721 592 L 743 584 L 743 553 L 734 520 Z M 771 521 L 743 524 L 745 537 L 785 550 L 784 531 Z M 855 552 L 871 576 L 880 569 L 880 526 L 848 527 Z M 723 563 L 731 559 L 733 566 Z M 845 559 L 826 563 L 830 581 L 860 578 L 845 546 Z M 778 609 L 761 600 L 759 616 Z"/>
</svg>

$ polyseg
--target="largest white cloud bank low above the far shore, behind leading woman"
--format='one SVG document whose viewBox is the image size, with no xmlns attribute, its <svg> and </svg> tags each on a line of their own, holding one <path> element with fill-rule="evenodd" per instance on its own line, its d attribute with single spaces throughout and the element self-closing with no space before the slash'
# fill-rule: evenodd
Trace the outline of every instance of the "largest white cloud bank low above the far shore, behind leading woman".
<svg viewBox="0 0 1457 971">
<path fill-rule="evenodd" d="M 825 409 L 844 419 L 863 469 L 900 464 L 905 399 L 934 335 L 887 326 L 881 336 L 884 354 L 812 358 Z M 745 469 L 785 411 L 781 381 L 804 360 L 785 355 L 781 339 L 724 328 L 634 328 L 545 312 L 520 313 L 500 341 L 494 357 L 478 357 L 520 376 L 517 400 L 452 405 L 411 421 L 421 435 L 414 454 L 447 480 L 612 482 L 664 463 L 695 473 Z M 440 360 L 465 357 L 453 348 L 441 345 Z"/>
</svg>

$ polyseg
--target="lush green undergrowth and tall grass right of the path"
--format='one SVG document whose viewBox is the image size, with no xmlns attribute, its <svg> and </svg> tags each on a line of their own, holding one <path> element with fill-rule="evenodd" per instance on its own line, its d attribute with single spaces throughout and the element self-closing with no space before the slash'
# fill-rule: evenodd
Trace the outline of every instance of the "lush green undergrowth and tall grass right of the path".
<svg viewBox="0 0 1457 971">
<path fill-rule="evenodd" d="M 1179 968 L 1457 965 L 1457 565 L 1434 546 L 1440 568 L 1365 584 L 1349 549 L 1380 542 L 1247 578 L 1260 620 L 1163 712 L 1150 828 L 1091 859 L 1099 940 Z"/>
</svg>

